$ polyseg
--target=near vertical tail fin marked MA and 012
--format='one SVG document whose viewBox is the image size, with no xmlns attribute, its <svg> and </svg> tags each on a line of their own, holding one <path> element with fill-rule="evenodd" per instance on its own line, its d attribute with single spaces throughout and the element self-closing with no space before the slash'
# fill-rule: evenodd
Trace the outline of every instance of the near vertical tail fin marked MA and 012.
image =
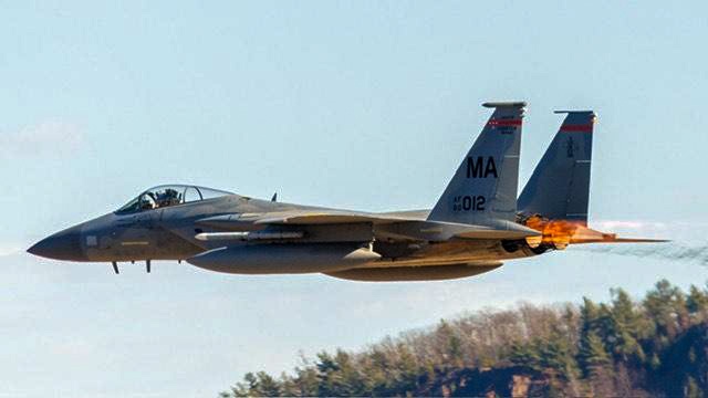
<svg viewBox="0 0 708 398">
<path fill-rule="evenodd" d="M 428 220 L 492 226 L 514 221 L 519 150 L 525 103 L 485 103 L 494 108 Z"/>
</svg>

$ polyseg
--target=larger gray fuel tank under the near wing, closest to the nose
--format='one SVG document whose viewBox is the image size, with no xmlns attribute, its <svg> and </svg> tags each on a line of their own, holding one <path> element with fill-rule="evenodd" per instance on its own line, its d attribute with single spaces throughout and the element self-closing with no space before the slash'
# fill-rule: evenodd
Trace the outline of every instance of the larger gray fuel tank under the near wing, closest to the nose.
<svg viewBox="0 0 708 398">
<path fill-rule="evenodd" d="M 226 273 L 288 274 L 346 270 L 379 258 L 381 254 L 361 244 L 261 243 L 209 250 L 187 262 Z"/>
</svg>

